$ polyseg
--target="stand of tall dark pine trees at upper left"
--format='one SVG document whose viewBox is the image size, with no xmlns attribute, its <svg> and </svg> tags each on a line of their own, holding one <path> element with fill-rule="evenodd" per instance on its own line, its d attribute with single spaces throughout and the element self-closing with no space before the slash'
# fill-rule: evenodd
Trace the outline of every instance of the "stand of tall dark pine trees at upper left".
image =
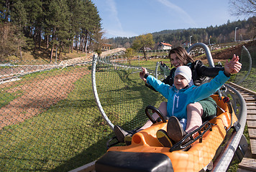
<svg viewBox="0 0 256 172">
<path fill-rule="evenodd" d="M 101 17 L 91 0 L 0 1 L 0 60 L 44 46 L 52 54 L 86 52 L 102 37 Z M 99 45 L 93 44 L 94 50 Z M 97 47 L 98 46 L 98 47 Z"/>
</svg>

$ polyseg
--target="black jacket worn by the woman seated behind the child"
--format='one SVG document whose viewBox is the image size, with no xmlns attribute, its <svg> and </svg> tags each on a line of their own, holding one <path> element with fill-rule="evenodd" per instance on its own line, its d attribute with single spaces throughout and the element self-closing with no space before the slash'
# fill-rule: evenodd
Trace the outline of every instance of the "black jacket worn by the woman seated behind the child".
<svg viewBox="0 0 256 172">
<path fill-rule="evenodd" d="M 196 86 L 204 84 L 205 82 L 209 82 L 209 80 L 211 79 L 210 77 L 216 77 L 216 75 L 219 74 L 220 70 L 224 70 L 224 67 L 206 67 L 200 60 L 188 63 L 187 66 L 191 68 L 193 84 Z M 172 86 L 175 70 L 175 67 L 170 70 L 170 75 L 166 77 L 162 82 Z M 155 90 L 151 85 L 147 85 L 147 87 Z"/>
</svg>

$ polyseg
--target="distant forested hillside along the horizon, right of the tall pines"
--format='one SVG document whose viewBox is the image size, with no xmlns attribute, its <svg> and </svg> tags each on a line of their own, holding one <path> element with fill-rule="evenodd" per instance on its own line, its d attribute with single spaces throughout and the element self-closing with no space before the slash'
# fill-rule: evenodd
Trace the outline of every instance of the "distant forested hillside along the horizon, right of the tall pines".
<svg viewBox="0 0 256 172">
<path fill-rule="evenodd" d="M 192 44 L 196 42 L 203 42 L 205 44 L 223 44 L 234 42 L 234 32 L 236 27 L 236 41 L 255 39 L 255 25 L 256 16 L 252 16 L 247 20 L 238 20 L 237 22 L 227 21 L 227 24 L 215 27 L 163 30 L 161 32 L 152 33 L 152 36 L 155 41 L 155 47 L 163 41 L 173 45 L 173 47 L 177 47 L 183 42 L 189 42 L 191 36 Z M 132 42 L 134 42 L 135 38 L 136 37 L 116 37 L 109 39 L 109 43 L 113 44 L 113 47 L 129 48 L 132 46 Z"/>
</svg>

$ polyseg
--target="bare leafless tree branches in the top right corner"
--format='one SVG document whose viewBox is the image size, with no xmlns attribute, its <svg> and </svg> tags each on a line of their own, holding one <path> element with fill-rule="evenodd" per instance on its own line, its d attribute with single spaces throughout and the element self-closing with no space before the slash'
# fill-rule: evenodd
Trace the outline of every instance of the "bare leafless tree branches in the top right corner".
<svg viewBox="0 0 256 172">
<path fill-rule="evenodd" d="M 255 0 L 229 0 L 231 14 L 234 16 L 255 16 L 256 1 Z"/>
</svg>

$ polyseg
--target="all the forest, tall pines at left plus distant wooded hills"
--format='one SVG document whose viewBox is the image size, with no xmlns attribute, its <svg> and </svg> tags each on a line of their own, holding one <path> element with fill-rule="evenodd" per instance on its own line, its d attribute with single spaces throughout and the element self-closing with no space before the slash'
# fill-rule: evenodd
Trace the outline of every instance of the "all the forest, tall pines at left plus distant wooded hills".
<svg viewBox="0 0 256 172">
<path fill-rule="evenodd" d="M 256 16 L 207 28 L 163 30 L 152 34 L 155 47 L 167 42 L 173 47 L 183 42 L 221 44 L 255 39 Z M 49 61 L 53 54 L 94 51 L 101 53 L 103 43 L 116 47 L 132 47 L 136 37 L 104 39 L 101 16 L 91 0 L 2 0 L 0 1 L 0 61 L 9 56 L 22 59 L 22 52 L 47 49 Z M 153 46 L 154 47 L 154 46 Z"/>
</svg>

